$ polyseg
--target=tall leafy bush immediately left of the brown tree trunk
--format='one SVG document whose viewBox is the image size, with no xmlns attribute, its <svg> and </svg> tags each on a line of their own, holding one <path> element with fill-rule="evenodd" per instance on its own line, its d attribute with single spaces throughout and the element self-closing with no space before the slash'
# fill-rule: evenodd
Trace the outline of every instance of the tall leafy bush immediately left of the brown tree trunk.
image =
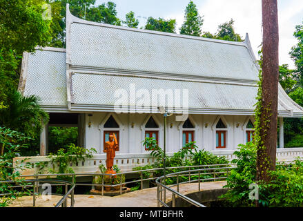
<svg viewBox="0 0 303 221">
<path fill-rule="evenodd" d="M 222 198 L 233 206 L 253 206 L 255 202 L 249 200 L 249 185 L 255 183 L 257 148 L 252 142 L 240 144 L 239 151 L 235 151 L 235 159 L 231 163 L 237 168 L 231 170 L 227 177 L 228 192 Z"/>
</svg>

